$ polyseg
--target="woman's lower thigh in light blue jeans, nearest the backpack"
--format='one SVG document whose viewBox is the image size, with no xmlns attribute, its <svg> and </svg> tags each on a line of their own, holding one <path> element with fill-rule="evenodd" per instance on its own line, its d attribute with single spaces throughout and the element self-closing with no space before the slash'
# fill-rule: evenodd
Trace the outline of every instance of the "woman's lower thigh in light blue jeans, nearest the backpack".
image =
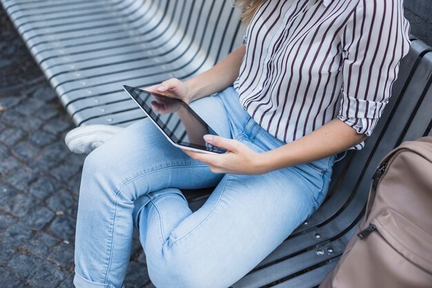
<svg viewBox="0 0 432 288">
<path fill-rule="evenodd" d="M 163 243 L 156 232 L 153 244 L 147 240 L 153 280 L 166 281 L 158 271 L 168 267 L 176 271 L 172 279 L 177 287 L 232 285 L 308 218 L 316 205 L 311 190 L 325 189 L 320 186 L 311 187 L 294 169 L 225 175 L 201 209 L 181 220 L 171 233 L 166 231 Z M 159 208 L 150 217 L 164 227 L 164 213 L 169 211 Z M 193 277 L 181 282 L 184 275 Z"/>
</svg>

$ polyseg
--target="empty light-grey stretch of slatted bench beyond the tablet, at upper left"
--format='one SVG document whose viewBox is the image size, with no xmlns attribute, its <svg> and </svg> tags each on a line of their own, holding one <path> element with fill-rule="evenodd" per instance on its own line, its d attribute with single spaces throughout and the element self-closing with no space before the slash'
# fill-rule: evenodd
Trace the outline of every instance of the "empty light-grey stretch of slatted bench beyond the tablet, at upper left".
<svg viewBox="0 0 432 288">
<path fill-rule="evenodd" d="M 3 1 L 75 124 L 142 118 L 121 88 L 202 73 L 242 43 L 230 1 Z"/>
</svg>

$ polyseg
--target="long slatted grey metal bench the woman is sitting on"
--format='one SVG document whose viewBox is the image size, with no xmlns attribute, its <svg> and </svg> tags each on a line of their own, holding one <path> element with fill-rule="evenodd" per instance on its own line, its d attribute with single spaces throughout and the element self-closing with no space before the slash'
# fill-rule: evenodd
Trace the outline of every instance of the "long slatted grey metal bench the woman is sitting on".
<svg viewBox="0 0 432 288">
<path fill-rule="evenodd" d="M 75 124 L 128 126 L 144 117 L 121 85 L 187 79 L 242 43 L 230 0 L 0 0 Z M 316 287 L 362 218 L 377 163 L 402 141 L 432 135 L 432 52 L 413 39 L 393 96 L 362 151 L 335 165 L 322 207 L 240 287 Z M 198 209 L 210 191 L 186 193 Z"/>
</svg>

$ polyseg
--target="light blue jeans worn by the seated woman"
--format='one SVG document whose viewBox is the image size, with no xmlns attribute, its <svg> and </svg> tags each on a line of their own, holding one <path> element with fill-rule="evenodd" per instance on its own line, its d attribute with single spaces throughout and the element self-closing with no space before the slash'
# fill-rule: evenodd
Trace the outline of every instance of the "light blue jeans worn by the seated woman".
<svg viewBox="0 0 432 288">
<path fill-rule="evenodd" d="M 221 136 L 254 151 L 284 145 L 254 122 L 232 88 L 191 106 Z M 148 119 L 86 157 L 79 192 L 75 287 L 124 287 L 132 229 L 158 288 L 226 288 L 320 206 L 336 155 L 264 175 L 215 174 Z M 179 189 L 216 186 L 193 213 Z"/>
</svg>

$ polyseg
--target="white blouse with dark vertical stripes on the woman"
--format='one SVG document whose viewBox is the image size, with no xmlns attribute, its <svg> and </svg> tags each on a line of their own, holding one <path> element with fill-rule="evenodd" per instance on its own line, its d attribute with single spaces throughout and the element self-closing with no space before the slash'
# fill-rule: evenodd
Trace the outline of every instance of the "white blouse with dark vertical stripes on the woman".
<svg viewBox="0 0 432 288">
<path fill-rule="evenodd" d="M 371 135 L 411 45 L 403 12 L 403 0 L 267 0 L 234 83 L 243 108 L 286 143 L 335 117 Z"/>
</svg>

